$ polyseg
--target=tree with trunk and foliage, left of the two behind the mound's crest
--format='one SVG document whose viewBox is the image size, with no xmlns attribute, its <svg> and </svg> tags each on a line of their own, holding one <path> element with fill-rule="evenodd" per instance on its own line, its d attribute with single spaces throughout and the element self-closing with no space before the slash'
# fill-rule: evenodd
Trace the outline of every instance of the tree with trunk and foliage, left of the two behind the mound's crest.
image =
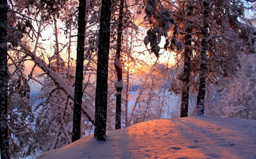
<svg viewBox="0 0 256 159">
<path fill-rule="evenodd" d="M 194 9 L 196 5 L 198 5 L 196 1 L 167 3 L 167 7 L 172 13 L 175 13 L 176 23 L 179 25 L 177 38 L 184 43 L 180 51 L 174 50 L 177 55 L 176 68 L 178 79 L 174 79 L 170 86 L 170 90 L 181 94 L 180 117 L 187 117 L 188 115 L 189 87 L 191 84 L 190 74 L 194 69 L 193 65 L 191 66 L 191 61 L 195 60 L 193 54 L 195 54 L 198 48 L 195 46 L 195 37 L 198 36 L 200 32 L 198 32 L 197 26 L 189 20 L 198 16 L 197 10 Z M 179 81 L 181 81 L 181 84 L 179 84 Z M 180 86 L 178 87 L 178 85 Z"/>
</svg>

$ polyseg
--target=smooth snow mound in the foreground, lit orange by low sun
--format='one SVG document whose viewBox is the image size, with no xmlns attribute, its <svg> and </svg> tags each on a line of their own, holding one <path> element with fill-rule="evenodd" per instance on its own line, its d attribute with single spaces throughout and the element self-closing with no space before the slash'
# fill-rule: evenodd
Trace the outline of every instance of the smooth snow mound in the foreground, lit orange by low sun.
<svg viewBox="0 0 256 159">
<path fill-rule="evenodd" d="M 89 135 L 37 158 L 256 158 L 256 121 L 236 118 L 159 119 Z"/>
</svg>

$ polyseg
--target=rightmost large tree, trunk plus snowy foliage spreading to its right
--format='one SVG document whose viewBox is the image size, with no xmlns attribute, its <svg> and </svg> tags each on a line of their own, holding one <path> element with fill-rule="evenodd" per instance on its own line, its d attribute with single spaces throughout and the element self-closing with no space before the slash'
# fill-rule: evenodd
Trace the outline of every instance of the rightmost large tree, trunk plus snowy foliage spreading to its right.
<svg viewBox="0 0 256 159">
<path fill-rule="evenodd" d="M 236 0 L 223 3 L 203 1 L 199 86 L 195 114 L 204 114 L 206 74 L 209 82 L 218 81 L 218 78 L 236 72 L 240 51 L 255 52 L 255 38 L 252 36 L 254 29 L 244 16 L 245 11 L 249 9 L 251 7 L 246 7 L 243 2 Z"/>
</svg>

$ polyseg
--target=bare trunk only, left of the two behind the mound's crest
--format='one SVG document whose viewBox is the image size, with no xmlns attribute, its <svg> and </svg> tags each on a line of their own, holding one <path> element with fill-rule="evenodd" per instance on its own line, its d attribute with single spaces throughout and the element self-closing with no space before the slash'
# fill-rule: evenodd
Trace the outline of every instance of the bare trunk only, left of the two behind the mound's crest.
<svg viewBox="0 0 256 159">
<path fill-rule="evenodd" d="M 193 12 L 192 4 L 188 4 L 187 16 L 190 17 L 191 12 Z M 192 26 L 188 25 L 185 29 L 185 46 L 191 46 L 191 32 Z M 182 79 L 182 93 L 181 93 L 181 107 L 180 107 L 180 117 L 187 117 L 188 114 L 188 97 L 189 97 L 189 81 L 190 81 L 190 70 L 191 70 L 191 49 L 185 47 L 184 49 L 184 68 L 183 68 L 183 79 Z"/>
</svg>

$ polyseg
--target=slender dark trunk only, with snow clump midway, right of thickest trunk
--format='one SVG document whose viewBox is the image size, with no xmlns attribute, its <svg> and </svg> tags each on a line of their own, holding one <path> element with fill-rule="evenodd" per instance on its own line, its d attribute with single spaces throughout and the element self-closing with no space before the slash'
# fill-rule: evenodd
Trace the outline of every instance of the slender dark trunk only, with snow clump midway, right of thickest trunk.
<svg viewBox="0 0 256 159">
<path fill-rule="evenodd" d="M 120 64 L 120 53 L 121 53 L 121 44 L 122 44 L 122 29 L 123 29 L 123 4 L 124 0 L 120 0 L 119 8 L 119 22 L 117 29 L 117 49 L 116 49 L 116 61 Z M 115 62 L 115 69 L 117 72 L 117 81 L 122 80 L 122 67 Z M 121 128 L 121 103 L 122 103 L 122 87 L 116 88 L 116 129 Z"/>
</svg>

